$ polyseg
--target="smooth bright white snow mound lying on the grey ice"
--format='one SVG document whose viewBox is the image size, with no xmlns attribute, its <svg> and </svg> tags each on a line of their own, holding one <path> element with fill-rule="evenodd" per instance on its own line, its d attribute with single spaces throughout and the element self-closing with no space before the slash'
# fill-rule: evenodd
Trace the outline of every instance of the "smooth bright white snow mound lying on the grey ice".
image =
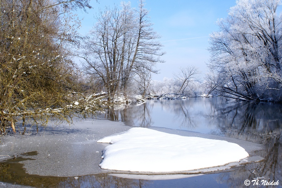
<svg viewBox="0 0 282 188">
<path fill-rule="evenodd" d="M 249 154 L 223 140 L 185 137 L 148 128 L 102 138 L 102 169 L 136 172 L 175 172 L 225 165 Z"/>
</svg>

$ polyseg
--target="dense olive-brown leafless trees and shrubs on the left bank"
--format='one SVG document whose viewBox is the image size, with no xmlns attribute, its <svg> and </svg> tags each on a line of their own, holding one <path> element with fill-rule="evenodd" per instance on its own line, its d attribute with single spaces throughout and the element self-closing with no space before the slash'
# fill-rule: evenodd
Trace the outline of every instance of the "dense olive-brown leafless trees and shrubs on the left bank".
<svg viewBox="0 0 282 188">
<path fill-rule="evenodd" d="M 16 121 L 46 124 L 87 113 L 91 97 L 77 84 L 79 71 L 70 59 L 80 23 L 71 10 L 91 8 L 88 0 L 0 1 L 0 131 Z M 92 101 L 93 102 L 93 101 Z M 24 129 L 25 131 L 25 129 Z"/>
</svg>

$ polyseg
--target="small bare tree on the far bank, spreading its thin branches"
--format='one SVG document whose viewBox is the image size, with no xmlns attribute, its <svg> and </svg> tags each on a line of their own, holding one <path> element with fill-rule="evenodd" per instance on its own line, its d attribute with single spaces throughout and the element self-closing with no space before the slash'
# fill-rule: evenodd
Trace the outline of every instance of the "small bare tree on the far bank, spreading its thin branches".
<svg viewBox="0 0 282 188">
<path fill-rule="evenodd" d="M 199 69 L 195 66 L 180 67 L 180 71 L 178 73 L 173 74 L 175 80 L 181 83 L 178 93 L 183 94 L 185 92 L 186 87 L 189 86 L 189 83 L 191 81 L 195 81 L 197 78 L 196 76 L 199 73 Z"/>
</svg>

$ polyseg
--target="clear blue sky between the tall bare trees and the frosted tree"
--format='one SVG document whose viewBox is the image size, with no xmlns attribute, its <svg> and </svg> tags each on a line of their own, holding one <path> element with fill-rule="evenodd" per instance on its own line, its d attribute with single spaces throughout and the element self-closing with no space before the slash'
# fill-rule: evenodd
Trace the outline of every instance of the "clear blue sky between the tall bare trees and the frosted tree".
<svg viewBox="0 0 282 188">
<path fill-rule="evenodd" d="M 99 8 L 106 5 L 119 5 L 119 0 L 91 1 L 93 9 L 88 13 L 78 11 L 81 21 L 81 34 L 86 34 L 95 24 L 94 15 Z M 128 1 L 126 1 L 128 2 Z M 132 7 L 138 6 L 138 0 L 130 1 Z M 150 10 L 149 16 L 154 23 L 154 30 L 162 36 L 159 41 L 164 45 L 166 54 L 162 57 L 165 63 L 157 64 L 159 74 L 153 75 L 153 80 L 163 80 L 164 77 L 173 77 L 179 68 L 187 65 L 199 67 L 202 77 L 207 71 L 206 63 L 209 60 L 209 34 L 217 31 L 215 22 L 218 18 L 226 18 L 230 7 L 236 4 L 235 0 L 175 0 L 160 1 L 147 0 L 145 8 Z"/>
</svg>

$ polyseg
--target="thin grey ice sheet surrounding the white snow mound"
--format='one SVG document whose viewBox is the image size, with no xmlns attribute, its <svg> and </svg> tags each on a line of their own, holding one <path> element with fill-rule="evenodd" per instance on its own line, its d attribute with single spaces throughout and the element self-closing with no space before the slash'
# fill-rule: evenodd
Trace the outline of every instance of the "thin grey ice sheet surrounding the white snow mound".
<svg viewBox="0 0 282 188">
<path fill-rule="evenodd" d="M 50 125 L 37 134 L 19 135 L 12 133 L 2 137 L 0 160 L 4 161 L 14 157 L 28 159 L 21 160 L 20 163 L 24 164 L 26 173 L 29 175 L 76 177 L 102 173 L 118 173 L 118 171 L 103 170 L 98 166 L 102 160 L 102 151 L 108 144 L 97 143 L 96 141 L 112 134 L 127 131 L 130 128 L 132 127 L 125 125 L 123 122 L 88 118 L 86 120 L 77 120 L 71 126 L 60 125 L 52 127 Z M 181 136 L 226 140 L 239 144 L 251 155 L 254 155 L 255 150 L 264 149 L 260 144 L 254 144 L 236 138 L 168 128 L 151 128 Z M 257 158 L 250 158 L 252 161 L 261 159 L 259 156 Z M 246 163 L 250 162 L 250 160 L 241 162 Z M 233 163 L 220 168 L 194 170 L 186 173 L 222 170 L 232 165 L 238 164 Z M 180 172 L 176 172 L 175 174 L 180 174 Z M 124 175 L 124 177 L 128 178 L 128 175 Z M 161 178 L 163 179 L 164 177 Z M 141 176 L 140 179 L 142 179 Z M 7 185 L 10 186 L 10 184 Z"/>
</svg>

